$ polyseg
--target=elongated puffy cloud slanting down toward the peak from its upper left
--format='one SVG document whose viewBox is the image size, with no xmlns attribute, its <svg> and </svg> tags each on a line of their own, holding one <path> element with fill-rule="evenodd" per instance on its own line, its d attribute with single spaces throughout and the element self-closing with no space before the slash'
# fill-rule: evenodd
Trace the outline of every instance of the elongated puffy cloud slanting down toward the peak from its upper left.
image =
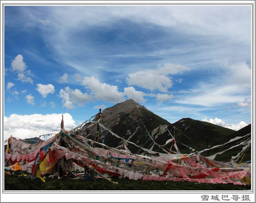
<svg viewBox="0 0 256 203">
<path fill-rule="evenodd" d="M 92 91 L 96 100 L 104 100 L 106 102 L 124 101 L 124 94 L 118 91 L 117 86 L 101 83 L 97 78 L 85 77 L 82 81 L 85 88 Z"/>
</svg>

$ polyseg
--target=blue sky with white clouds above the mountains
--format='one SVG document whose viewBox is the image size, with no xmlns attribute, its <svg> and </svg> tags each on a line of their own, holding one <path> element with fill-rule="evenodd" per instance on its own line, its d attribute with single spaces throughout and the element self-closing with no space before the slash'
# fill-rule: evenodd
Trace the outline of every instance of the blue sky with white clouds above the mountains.
<svg viewBox="0 0 256 203">
<path fill-rule="evenodd" d="M 174 123 L 251 116 L 250 6 L 5 6 L 5 139 L 133 99 Z"/>
</svg>

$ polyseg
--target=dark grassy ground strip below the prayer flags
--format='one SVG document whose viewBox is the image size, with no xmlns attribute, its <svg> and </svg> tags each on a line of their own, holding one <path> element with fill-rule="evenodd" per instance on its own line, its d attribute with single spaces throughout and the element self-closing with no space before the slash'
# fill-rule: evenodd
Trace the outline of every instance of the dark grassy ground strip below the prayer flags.
<svg viewBox="0 0 256 203">
<path fill-rule="evenodd" d="M 43 183 L 39 178 L 19 176 L 21 171 L 14 175 L 4 176 L 4 190 L 250 190 L 250 185 L 207 184 L 178 181 L 135 181 L 128 178 L 112 178 L 113 184 L 102 178 L 97 181 L 72 180 L 68 178 L 46 178 Z"/>
</svg>

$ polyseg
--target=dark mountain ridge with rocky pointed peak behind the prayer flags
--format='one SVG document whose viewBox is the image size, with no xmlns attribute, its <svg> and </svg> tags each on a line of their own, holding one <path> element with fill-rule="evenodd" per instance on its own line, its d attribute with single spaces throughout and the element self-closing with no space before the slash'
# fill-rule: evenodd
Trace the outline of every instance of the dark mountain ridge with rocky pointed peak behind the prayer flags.
<svg viewBox="0 0 256 203">
<path fill-rule="evenodd" d="M 134 136 L 130 138 L 130 141 L 149 149 L 153 145 L 153 141 L 147 135 L 146 127 L 148 132 L 155 139 L 155 142 L 159 145 L 164 145 L 162 148 L 155 145 L 153 150 L 162 153 L 165 153 L 163 149 L 169 152 L 171 148 L 171 142 L 165 145 L 166 141 L 172 138 L 169 132 L 175 137 L 176 144 L 181 153 L 189 153 L 189 147 L 194 149 L 197 147 L 198 151 L 206 149 L 207 142 L 209 148 L 214 145 L 225 143 L 231 138 L 236 137 L 238 132 L 191 118 L 182 118 L 171 124 L 132 99 L 106 108 L 102 113 L 105 115 L 101 123 L 125 139 L 128 139 L 134 133 L 136 128 L 140 126 Z M 141 125 L 142 122 L 145 127 Z M 79 133 L 77 132 L 77 134 L 94 140 L 96 131 L 96 125 L 93 125 L 93 127 L 79 130 Z M 246 130 L 244 131 L 241 129 L 241 132 L 239 133 L 244 134 L 246 132 Z M 101 129 L 99 142 L 103 143 L 103 140 L 104 144 L 111 147 L 117 147 L 123 143 L 121 139 L 118 139 L 106 130 Z M 132 153 L 138 153 L 140 150 L 140 148 L 131 144 L 127 144 L 127 147 Z M 213 153 L 216 152 L 210 152 L 209 155 L 212 155 Z M 208 156 L 207 153 L 202 155 Z"/>
</svg>

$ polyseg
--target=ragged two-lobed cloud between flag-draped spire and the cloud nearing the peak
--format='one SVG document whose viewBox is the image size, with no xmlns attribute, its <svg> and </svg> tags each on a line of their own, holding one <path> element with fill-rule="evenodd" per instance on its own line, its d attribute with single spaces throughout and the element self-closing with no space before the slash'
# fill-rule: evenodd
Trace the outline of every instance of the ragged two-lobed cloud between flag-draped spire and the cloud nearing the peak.
<svg viewBox="0 0 256 203">
<path fill-rule="evenodd" d="M 72 90 L 69 87 L 60 90 L 59 97 L 62 98 L 63 107 L 66 109 L 73 109 L 74 104 L 79 106 L 85 105 L 85 103 L 92 101 L 93 96 L 87 93 L 82 93 L 81 90 Z"/>
</svg>

